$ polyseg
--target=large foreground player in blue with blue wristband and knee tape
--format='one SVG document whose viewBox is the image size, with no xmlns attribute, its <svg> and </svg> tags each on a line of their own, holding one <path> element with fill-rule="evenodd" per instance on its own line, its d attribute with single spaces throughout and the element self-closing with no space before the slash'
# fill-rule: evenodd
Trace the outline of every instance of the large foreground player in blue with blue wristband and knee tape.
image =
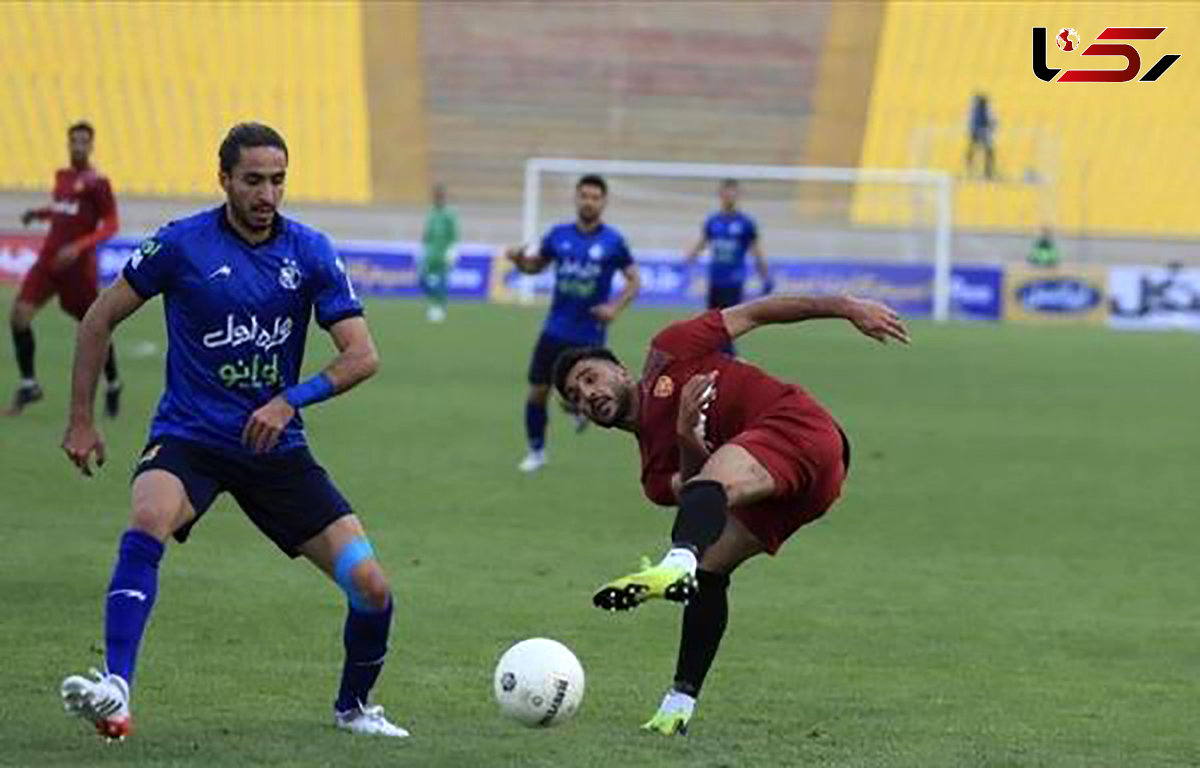
<svg viewBox="0 0 1200 768">
<path fill-rule="evenodd" d="M 362 306 L 329 239 L 277 212 L 288 151 L 260 124 L 234 126 L 220 150 L 226 204 L 163 227 L 142 244 L 79 329 L 62 448 L 85 474 L 104 462 L 92 421 L 96 378 L 113 329 L 162 294 L 167 385 L 133 472 L 130 528 L 104 604 L 107 670 L 62 682 L 68 713 L 108 738 L 131 732 L 138 644 L 155 604 L 168 539 L 182 542 L 228 491 L 289 557 L 305 556 L 346 592 L 346 662 L 337 727 L 408 736 L 367 697 L 383 667 L 392 598 L 362 523 L 308 452 L 300 409 L 371 377 L 378 354 Z M 300 382 L 308 317 L 337 356 Z"/>
</svg>

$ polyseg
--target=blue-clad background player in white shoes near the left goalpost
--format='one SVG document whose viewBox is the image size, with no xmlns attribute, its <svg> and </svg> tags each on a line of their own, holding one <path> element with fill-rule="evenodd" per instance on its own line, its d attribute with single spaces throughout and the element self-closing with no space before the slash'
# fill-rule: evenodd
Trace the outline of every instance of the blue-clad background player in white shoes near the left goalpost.
<svg viewBox="0 0 1200 768">
<path fill-rule="evenodd" d="M 608 325 L 641 287 L 625 238 L 600 218 L 607 202 L 608 185 L 604 178 L 583 176 L 575 185 L 575 221 L 551 228 L 535 253 L 526 246 L 514 246 L 506 253 L 527 275 L 554 266 L 554 296 L 529 362 L 526 400 L 529 452 L 517 466 L 521 472 L 536 472 L 546 463 L 546 400 L 554 360 L 574 347 L 604 344 Z M 610 299 L 618 270 L 625 277 L 625 287 L 617 299 Z M 587 422 L 580 420 L 580 424 Z"/>
</svg>

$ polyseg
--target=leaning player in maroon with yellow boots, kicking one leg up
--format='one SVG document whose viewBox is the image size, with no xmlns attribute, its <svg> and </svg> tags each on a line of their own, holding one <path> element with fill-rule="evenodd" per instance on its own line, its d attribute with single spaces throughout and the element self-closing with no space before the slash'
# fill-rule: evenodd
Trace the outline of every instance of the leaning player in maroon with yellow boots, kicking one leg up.
<svg viewBox="0 0 1200 768">
<path fill-rule="evenodd" d="M 768 296 L 676 323 L 650 342 L 640 380 L 607 349 L 559 356 L 554 386 L 595 424 L 634 433 L 642 487 L 678 505 L 658 565 L 608 582 L 593 601 L 624 611 L 650 598 L 686 602 L 674 684 L 643 727 L 686 733 L 728 617 L 730 574 L 774 554 L 841 492 L 850 443 L 811 395 L 722 354 L 756 328 L 845 318 L 880 342 L 908 342 L 887 306 L 850 296 Z"/>
</svg>

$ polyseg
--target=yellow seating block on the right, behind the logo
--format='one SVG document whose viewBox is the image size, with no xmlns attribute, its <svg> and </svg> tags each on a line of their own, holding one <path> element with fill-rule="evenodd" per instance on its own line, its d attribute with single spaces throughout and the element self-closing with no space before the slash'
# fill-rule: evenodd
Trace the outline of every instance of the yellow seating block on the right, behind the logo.
<svg viewBox="0 0 1200 768">
<path fill-rule="evenodd" d="M 1033 26 L 1051 28 L 1050 38 L 1073 26 L 1086 47 L 1133 17 L 1168 28 L 1138 43 L 1142 72 L 1164 54 L 1183 54 L 1160 80 L 1048 84 L 1033 76 Z M 1194 236 L 1200 220 L 1187 192 L 1200 174 L 1198 30 L 1200 4 L 889 2 L 860 164 L 960 173 L 968 101 L 982 91 L 998 119 L 1000 180 L 961 180 L 960 229 L 1033 232 L 1048 223 L 1061 232 Z M 1049 49 L 1051 67 L 1116 64 Z M 904 223 L 894 210 L 860 193 L 854 217 Z"/>
</svg>

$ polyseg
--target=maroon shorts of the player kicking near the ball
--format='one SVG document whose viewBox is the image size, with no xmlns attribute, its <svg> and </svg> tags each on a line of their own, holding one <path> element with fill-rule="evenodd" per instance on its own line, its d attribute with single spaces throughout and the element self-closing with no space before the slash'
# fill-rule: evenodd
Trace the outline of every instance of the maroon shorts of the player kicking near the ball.
<svg viewBox="0 0 1200 768">
<path fill-rule="evenodd" d="M 732 510 L 770 554 L 841 494 L 848 445 L 833 419 L 811 406 L 784 400 L 730 444 L 744 448 L 775 481 L 770 498 Z"/>
</svg>

